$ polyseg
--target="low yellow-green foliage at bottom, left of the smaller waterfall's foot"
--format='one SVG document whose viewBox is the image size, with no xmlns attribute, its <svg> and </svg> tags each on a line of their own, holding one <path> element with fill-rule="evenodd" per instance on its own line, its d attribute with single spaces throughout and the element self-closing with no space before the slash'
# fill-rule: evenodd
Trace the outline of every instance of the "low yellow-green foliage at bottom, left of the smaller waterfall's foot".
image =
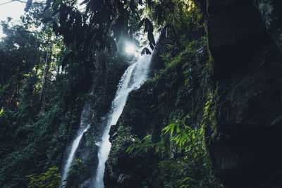
<svg viewBox="0 0 282 188">
<path fill-rule="evenodd" d="M 59 173 L 59 167 L 51 167 L 46 173 L 41 173 L 40 175 L 27 175 L 30 179 L 28 183 L 29 187 L 58 187 L 61 182 L 61 173 Z"/>
</svg>

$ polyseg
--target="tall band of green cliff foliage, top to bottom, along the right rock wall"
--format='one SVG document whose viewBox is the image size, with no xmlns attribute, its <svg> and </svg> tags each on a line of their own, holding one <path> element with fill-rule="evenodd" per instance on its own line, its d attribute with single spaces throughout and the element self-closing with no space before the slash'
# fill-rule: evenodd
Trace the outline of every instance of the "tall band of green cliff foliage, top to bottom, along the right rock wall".
<svg viewBox="0 0 282 188">
<path fill-rule="evenodd" d="M 178 20 L 180 16 L 177 14 L 182 13 L 181 10 L 184 9 L 176 11 L 175 16 Z M 189 11 L 190 13 L 187 13 Z M 192 100 L 188 109 L 190 115 L 164 127 L 160 142 L 152 142 L 151 136 L 147 135 L 141 140 L 134 138 L 135 144 L 127 149 L 128 153 L 133 154 L 152 151 L 152 149 L 158 153 L 160 162 L 159 170 L 154 172 L 154 177 L 157 177 L 154 187 L 222 187 L 212 172 L 212 164 L 205 147 L 204 126 L 200 129 L 192 128 L 195 126 L 194 120 L 198 108 L 201 108 L 201 103 L 206 101 L 205 94 L 198 92 L 207 87 L 207 83 L 203 80 L 207 79 L 208 71 L 203 61 L 205 60 L 204 46 L 207 45 L 207 37 L 205 37 L 206 32 L 202 24 L 202 13 L 197 6 L 190 7 L 189 11 L 183 13 L 183 20 L 179 22 L 176 20 L 173 22 L 173 15 L 171 15 L 171 23 L 175 24 L 173 25 L 174 31 L 170 31 L 176 32 L 179 37 L 173 37 L 173 42 L 166 44 L 167 51 L 161 56 L 165 67 L 154 76 L 153 80 L 160 82 L 165 77 L 166 88 L 158 96 L 159 101 L 165 101 L 168 100 L 167 96 L 170 96 L 171 93 L 173 73 L 184 75 L 185 84 L 178 91 L 174 104 L 177 106 L 183 104 L 183 100 Z M 179 75 L 174 77 L 179 77 Z M 187 95 L 191 99 L 183 99 L 183 96 L 187 97 Z M 187 103 L 185 105 L 188 105 Z M 183 117 L 181 113 L 183 111 L 180 111 L 178 116 L 171 113 L 169 117 L 181 118 Z M 191 126 L 188 126 L 188 123 Z"/>
</svg>

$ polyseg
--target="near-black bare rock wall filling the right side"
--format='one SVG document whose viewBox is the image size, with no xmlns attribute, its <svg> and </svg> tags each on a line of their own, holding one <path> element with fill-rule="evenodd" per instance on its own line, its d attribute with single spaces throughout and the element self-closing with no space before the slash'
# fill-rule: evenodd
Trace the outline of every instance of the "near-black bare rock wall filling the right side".
<svg viewBox="0 0 282 188">
<path fill-rule="evenodd" d="M 228 187 L 282 184 L 278 179 L 282 169 L 278 35 L 282 32 L 281 13 L 276 10 L 281 1 L 255 4 L 259 11 L 251 1 L 209 5 L 209 48 L 221 95 L 216 117 L 222 134 L 220 141 L 209 145 L 209 151 L 215 172 Z"/>
</svg>

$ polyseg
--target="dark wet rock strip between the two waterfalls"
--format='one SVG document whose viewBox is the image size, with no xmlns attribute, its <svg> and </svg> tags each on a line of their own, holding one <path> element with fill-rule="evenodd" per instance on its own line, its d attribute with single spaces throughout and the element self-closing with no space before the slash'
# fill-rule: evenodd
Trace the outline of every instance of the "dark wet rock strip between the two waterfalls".
<svg viewBox="0 0 282 188">
<path fill-rule="evenodd" d="M 75 153 L 75 158 L 80 158 L 85 168 L 80 175 L 68 177 L 67 187 L 90 187 L 92 184 L 91 178 L 94 177 L 98 165 L 99 146 L 96 143 L 101 140 L 106 125 L 104 117 L 109 113 L 118 82 L 128 67 L 126 61 L 127 59 L 117 54 L 109 56 L 109 54 L 101 53 L 97 56 L 92 93 L 86 101 L 92 111 L 90 115 L 94 114 L 94 117 L 87 122 L 90 128 L 83 135 L 78 151 Z"/>
</svg>

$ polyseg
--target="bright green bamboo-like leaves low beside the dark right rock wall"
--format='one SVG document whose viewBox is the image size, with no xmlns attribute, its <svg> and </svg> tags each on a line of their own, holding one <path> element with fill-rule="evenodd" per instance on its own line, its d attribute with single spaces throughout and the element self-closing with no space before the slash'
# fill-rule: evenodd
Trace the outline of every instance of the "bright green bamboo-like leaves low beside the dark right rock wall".
<svg viewBox="0 0 282 188">
<path fill-rule="evenodd" d="M 150 135 L 147 135 L 142 140 L 135 138 L 133 140 L 135 144 L 132 144 L 126 152 L 136 154 L 154 147 L 155 152 L 161 154 L 161 157 L 164 158 L 159 163 L 160 168 L 166 169 L 164 165 L 167 161 L 170 164 L 168 168 L 171 168 L 175 164 L 184 165 L 185 169 L 192 168 L 193 172 L 197 172 L 209 179 L 209 174 L 205 170 L 207 168 L 207 162 L 205 161 L 204 150 L 202 148 L 202 129 L 193 130 L 190 126 L 186 125 L 188 118 L 189 115 L 164 127 L 161 134 L 161 142 L 152 142 Z M 176 160 L 176 158 L 178 159 Z M 177 161 L 177 163 L 173 163 L 173 161 Z M 193 165 L 190 167 L 191 164 L 202 164 L 202 167 L 197 166 L 195 168 Z M 183 185 L 180 187 L 190 187 L 190 182 L 196 181 L 193 178 L 183 177 L 183 180 L 181 180 Z M 209 185 L 207 182 L 205 184 Z"/>
</svg>

